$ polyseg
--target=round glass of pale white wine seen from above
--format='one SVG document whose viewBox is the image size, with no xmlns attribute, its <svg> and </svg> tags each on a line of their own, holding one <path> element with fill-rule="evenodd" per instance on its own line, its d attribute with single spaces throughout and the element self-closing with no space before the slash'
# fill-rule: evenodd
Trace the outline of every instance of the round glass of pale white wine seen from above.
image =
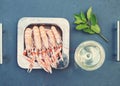
<svg viewBox="0 0 120 86">
<path fill-rule="evenodd" d="M 102 66 L 105 60 L 105 51 L 96 41 L 85 41 L 78 45 L 74 55 L 79 67 L 87 71 L 93 71 Z"/>
</svg>

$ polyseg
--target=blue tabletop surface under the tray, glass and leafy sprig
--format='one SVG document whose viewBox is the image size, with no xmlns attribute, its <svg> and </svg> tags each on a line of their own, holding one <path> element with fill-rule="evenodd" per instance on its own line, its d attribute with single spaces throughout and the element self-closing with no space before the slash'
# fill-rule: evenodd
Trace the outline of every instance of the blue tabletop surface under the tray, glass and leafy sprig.
<svg viewBox="0 0 120 86">
<path fill-rule="evenodd" d="M 98 35 L 75 30 L 74 13 L 92 6 L 106 43 Z M 70 22 L 70 64 L 64 70 L 43 70 L 27 73 L 17 64 L 17 23 L 22 17 L 62 17 Z M 116 62 L 116 21 L 120 19 L 120 0 L 0 0 L 0 22 L 3 24 L 3 64 L 0 65 L 0 86 L 119 86 L 120 63 Z M 74 62 L 79 43 L 95 40 L 106 51 L 101 68 L 87 72 Z"/>
</svg>

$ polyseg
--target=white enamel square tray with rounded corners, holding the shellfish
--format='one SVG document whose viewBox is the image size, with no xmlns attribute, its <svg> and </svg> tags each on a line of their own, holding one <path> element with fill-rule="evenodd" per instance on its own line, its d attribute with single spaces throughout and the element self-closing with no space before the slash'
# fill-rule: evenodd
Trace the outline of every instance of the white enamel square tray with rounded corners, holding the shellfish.
<svg viewBox="0 0 120 86">
<path fill-rule="evenodd" d="M 69 22 L 64 18 L 39 18 L 39 17 L 23 17 L 18 22 L 18 37 L 17 37 L 17 62 L 21 68 L 27 69 L 29 67 L 29 62 L 25 59 L 23 55 L 24 51 L 24 31 L 25 28 L 30 24 L 53 24 L 60 27 L 62 31 L 62 39 L 63 39 L 63 49 L 62 55 L 64 61 L 64 67 L 60 67 L 58 69 L 64 69 L 69 64 Z M 37 63 L 34 64 L 33 69 L 41 69 Z"/>
</svg>

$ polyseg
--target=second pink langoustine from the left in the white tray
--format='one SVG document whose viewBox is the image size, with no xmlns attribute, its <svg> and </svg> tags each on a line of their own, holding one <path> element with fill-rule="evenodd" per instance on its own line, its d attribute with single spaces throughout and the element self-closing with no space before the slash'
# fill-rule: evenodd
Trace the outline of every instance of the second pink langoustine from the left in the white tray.
<svg viewBox="0 0 120 86">
<path fill-rule="evenodd" d="M 33 27 L 33 36 L 34 36 L 34 46 L 35 46 L 35 50 L 36 52 L 36 60 L 38 62 L 38 64 L 46 71 L 46 72 L 50 72 L 51 71 L 51 67 L 49 67 L 45 61 L 43 61 L 43 55 L 39 54 L 39 52 L 41 52 L 42 50 L 42 40 L 41 40 L 41 35 L 40 35 L 40 29 L 37 26 Z"/>
</svg>

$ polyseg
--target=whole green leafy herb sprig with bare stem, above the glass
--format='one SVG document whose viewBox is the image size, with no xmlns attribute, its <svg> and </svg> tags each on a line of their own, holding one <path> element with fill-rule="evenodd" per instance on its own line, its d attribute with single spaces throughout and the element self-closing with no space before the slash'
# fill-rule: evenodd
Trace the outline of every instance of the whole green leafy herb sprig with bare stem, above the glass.
<svg viewBox="0 0 120 86">
<path fill-rule="evenodd" d="M 79 14 L 75 14 L 74 18 L 75 18 L 74 23 L 76 24 L 76 30 L 82 30 L 83 32 L 89 34 L 98 34 L 106 42 L 108 42 L 108 39 L 101 34 L 101 29 L 100 26 L 98 25 L 96 15 L 92 12 L 92 7 L 88 9 L 87 15 L 85 15 L 81 11 Z"/>
</svg>

